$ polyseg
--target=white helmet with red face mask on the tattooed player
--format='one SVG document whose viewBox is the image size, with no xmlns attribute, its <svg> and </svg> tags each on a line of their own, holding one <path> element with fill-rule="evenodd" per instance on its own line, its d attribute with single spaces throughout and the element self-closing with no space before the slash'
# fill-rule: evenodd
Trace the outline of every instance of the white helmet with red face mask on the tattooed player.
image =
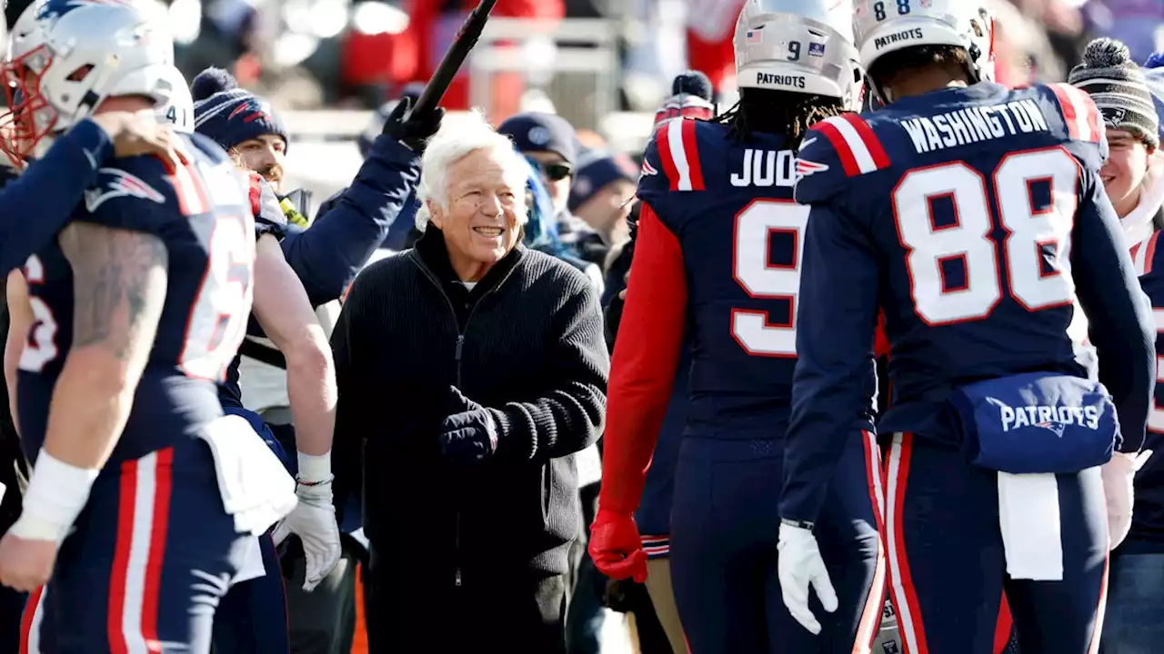
<svg viewBox="0 0 1164 654">
<path fill-rule="evenodd" d="M 88 116 L 114 95 L 169 100 L 173 41 L 149 0 L 40 0 L 16 20 L 3 74 L 14 157 Z M 19 151 L 13 151 L 16 149 Z"/>
</svg>

